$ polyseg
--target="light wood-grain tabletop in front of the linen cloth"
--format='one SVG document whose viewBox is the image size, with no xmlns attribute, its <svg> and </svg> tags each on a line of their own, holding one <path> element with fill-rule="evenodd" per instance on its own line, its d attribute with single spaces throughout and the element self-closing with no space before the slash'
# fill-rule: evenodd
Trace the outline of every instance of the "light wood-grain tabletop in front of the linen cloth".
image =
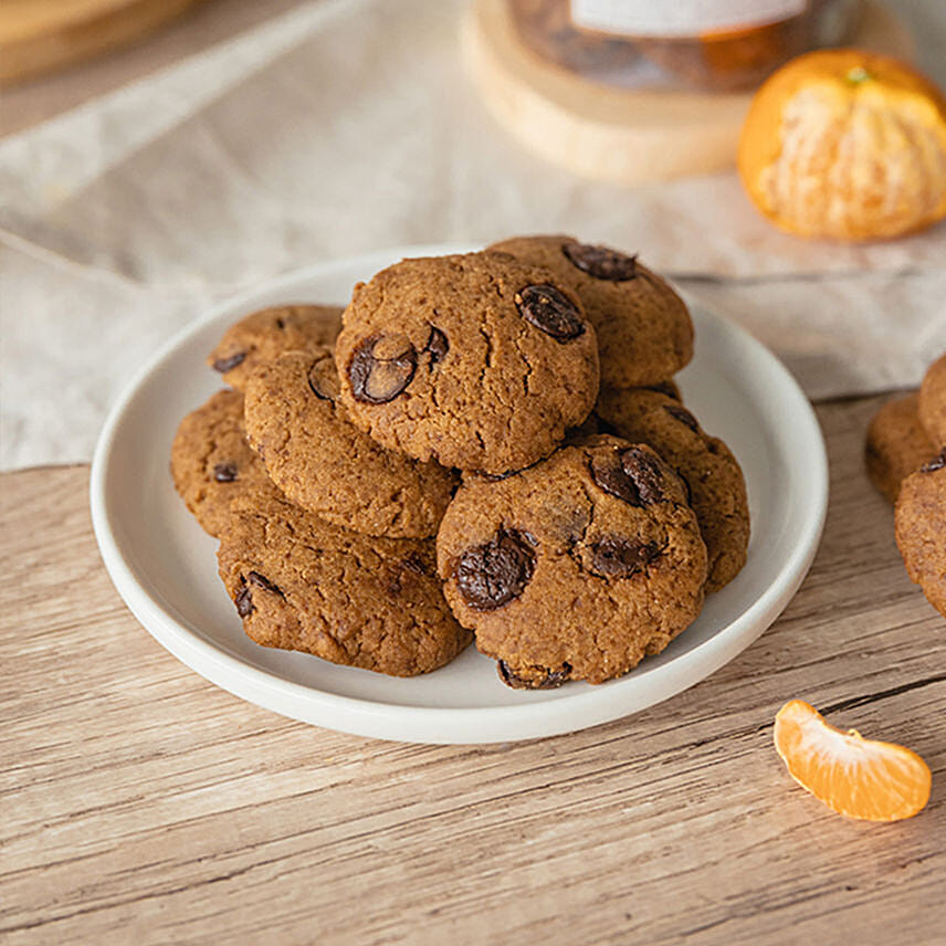
<svg viewBox="0 0 946 946">
<path fill-rule="evenodd" d="M 942 942 L 946 634 L 863 471 L 877 399 L 819 408 L 824 540 L 781 619 L 627 719 L 488 747 L 283 719 L 124 608 L 86 467 L 2 477 L 0 940 Z M 789 697 L 923 755 L 933 797 L 848 821 L 771 747 Z"/>
</svg>

